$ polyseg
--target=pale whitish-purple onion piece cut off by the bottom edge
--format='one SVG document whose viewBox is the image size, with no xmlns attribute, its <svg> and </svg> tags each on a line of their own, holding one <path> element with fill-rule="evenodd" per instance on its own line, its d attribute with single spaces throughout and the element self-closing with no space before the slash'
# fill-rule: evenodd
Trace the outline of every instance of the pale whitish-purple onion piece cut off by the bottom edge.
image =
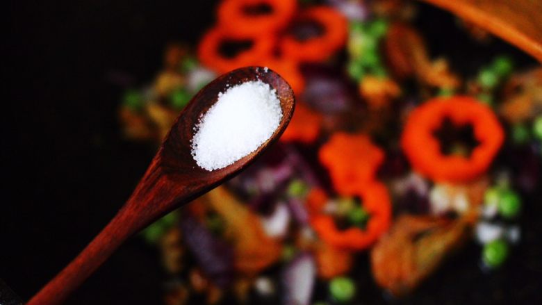
<svg viewBox="0 0 542 305">
<path fill-rule="evenodd" d="M 301 253 L 284 267 L 284 304 L 310 304 L 315 285 L 316 264 L 311 254 Z"/>
</svg>

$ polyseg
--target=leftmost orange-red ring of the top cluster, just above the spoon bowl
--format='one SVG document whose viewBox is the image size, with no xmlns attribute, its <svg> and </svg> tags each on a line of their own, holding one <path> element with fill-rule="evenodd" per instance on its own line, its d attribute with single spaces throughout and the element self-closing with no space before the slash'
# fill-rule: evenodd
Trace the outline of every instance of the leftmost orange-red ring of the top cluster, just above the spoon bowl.
<svg viewBox="0 0 542 305">
<path fill-rule="evenodd" d="M 245 44 L 248 49 L 240 49 L 232 56 L 222 53 L 224 43 Z M 274 35 L 259 35 L 258 38 L 234 38 L 220 27 L 212 28 L 199 42 L 197 56 L 209 69 L 218 73 L 229 72 L 233 69 L 256 65 L 262 58 L 270 58 L 275 46 Z"/>
</svg>

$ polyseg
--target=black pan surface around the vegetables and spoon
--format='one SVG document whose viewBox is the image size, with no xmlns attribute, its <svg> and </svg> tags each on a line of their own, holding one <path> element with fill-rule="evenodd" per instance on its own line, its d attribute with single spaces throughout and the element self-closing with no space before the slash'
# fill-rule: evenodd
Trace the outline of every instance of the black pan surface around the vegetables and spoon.
<svg viewBox="0 0 542 305">
<path fill-rule="evenodd" d="M 195 43 L 215 1 L 61 1 L 8 4 L 7 96 L 2 137 L 0 278 L 28 299 L 83 249 L 126 200 L 154 149 L 122 140 L 122 89 L 151 81 L 167 42 Z M 417 25 L 434 54 L 473 74 L 502 42 L 475 45 L 441 10 L 420 6 Z M 4 68 L 6 71 L 6 68 Z M 4 110 L 6 111 L 6 110 Z M 502 270 L 485 274 L 470 244 L 398 304 L 533 304 L 542 297 L 541 193 L 525 199 L 523 241 Z M 365 257 L 361 257 L 366 260 Z M 366 265 L 366 264 L 362 264 Z M 390 302 L 368 267 L 356 272 L 361 301 Z M 156 252 L 126 242 L 66 304 L 160 304 Z"/>
</svg>

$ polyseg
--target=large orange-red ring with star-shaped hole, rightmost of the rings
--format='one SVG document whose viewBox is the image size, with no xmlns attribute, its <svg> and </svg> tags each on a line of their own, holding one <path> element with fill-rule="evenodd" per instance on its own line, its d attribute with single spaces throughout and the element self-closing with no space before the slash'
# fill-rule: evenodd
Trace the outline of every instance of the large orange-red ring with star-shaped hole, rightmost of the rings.
<svg viewBox="0 0 542 305">
<path fill-rule="evenodd" d="M 434 131 L 449 118 L 453 124 L 471 124 L 479 142 L 469 157 L 444 155 Z M 401 146 L 416 172 L 438 182 L 470 181 L 484 174 L 504 141 L 493 110 L 472 97 L 437 97 L 414 109 L 407 118 Z"/>
</svg>

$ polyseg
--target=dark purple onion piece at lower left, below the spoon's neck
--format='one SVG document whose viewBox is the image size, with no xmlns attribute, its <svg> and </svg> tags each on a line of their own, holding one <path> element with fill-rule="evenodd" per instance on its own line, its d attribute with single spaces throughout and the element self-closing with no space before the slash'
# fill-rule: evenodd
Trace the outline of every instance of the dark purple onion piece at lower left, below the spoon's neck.
<svg viewBox="0 0 542 305">
<path fill-rule="evenodd" d="M 233 250 L 223 240 L 194 217 L 183 217 L 181 230 L 186 246 L 195 256 L 202 272 L 220 287 L 227 287 L 233 280 Z"/>
</svg>

